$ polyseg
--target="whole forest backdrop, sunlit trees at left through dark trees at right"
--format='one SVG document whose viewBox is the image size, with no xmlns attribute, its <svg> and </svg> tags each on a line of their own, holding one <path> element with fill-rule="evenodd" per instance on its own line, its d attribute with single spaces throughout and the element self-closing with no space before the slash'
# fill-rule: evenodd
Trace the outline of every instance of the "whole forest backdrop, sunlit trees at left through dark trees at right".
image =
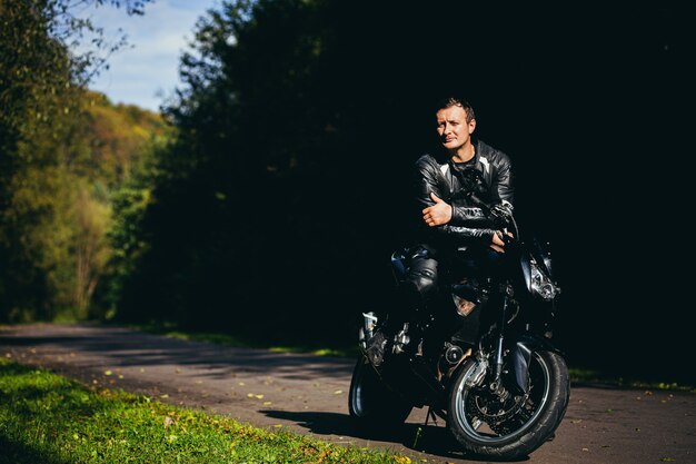
<svg viewBox="0 0 696 464">
<path fill-rule="evenodd" d="M 389 305 L 432 103 L 460 95 L 554 246 L 569 364 L 693 383 L 685 14 L 483 3 L 222 1 L 155 113 L 89 90 L 71 2 L 2 0 L 0 323 L 350 346 Z"/>
</svg>

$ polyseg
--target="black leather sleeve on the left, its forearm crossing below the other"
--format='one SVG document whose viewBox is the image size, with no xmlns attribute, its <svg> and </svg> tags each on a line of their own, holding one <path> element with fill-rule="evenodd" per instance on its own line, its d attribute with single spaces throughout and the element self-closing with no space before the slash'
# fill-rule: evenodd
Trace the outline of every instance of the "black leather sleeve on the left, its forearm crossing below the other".
<svg viewBox="0 0 696 464">
<path fill-rule="evenodd" d="M 480 208 L 454 208 L 453 220 L 449 224 L 430 227 L 422 220 L 422 209 L 435 205 L 430 198 L 434 192 L 439 198 L 447 199 L 448 191 L 443 191 L 441 182 L 438 180 L 440 172 L 438 166 L 428 162 L 427 159 L 420 158 L 415 169 L 415 191 L 416 191 L 416 214 L 414 218 L 418 228 L 426 237 L 463 239 L 466 241 L 481 240 L 490 243 L 495 230 L 490 228 L 493 223 L 486 217 Z M 455 211 L 457 211 L 457 220 L 455 221 Z"/>
</svg>

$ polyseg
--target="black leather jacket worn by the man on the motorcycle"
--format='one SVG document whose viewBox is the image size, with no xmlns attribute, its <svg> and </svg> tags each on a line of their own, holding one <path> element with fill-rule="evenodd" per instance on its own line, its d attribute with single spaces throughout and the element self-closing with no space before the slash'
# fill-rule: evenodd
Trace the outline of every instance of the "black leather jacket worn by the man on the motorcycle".
<svg viewBox="0 0 696 464">
<path fill-rule="evenodd" d="M 495 229 L 487 208 L 503 204 L 511 211 L 513 180 L 509 157 L 480 140 L 475 141 L 475 158 L 464 167 L 422 155 L 416 161 L 415 179 L 418 241 L 434 249 L 490 244 Z M 430 192 L 453 206 L 448 224 L 429 227 L 424 223 L 422 209 L 435 205 Z"/>
</svg>

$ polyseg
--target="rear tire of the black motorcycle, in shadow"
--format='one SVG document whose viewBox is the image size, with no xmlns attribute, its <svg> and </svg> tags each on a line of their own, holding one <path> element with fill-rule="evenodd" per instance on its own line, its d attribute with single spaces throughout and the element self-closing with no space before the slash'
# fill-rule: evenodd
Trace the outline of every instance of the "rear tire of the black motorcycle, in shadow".
<svg viewBox="0 0 696 464">
<path fill-rule="evenodd" d="M 365 357 L 360 356 L 352 371 L 348 412 L 362 430 L 379 430 L 402 424 L 412 405 L 388 388 Z"/>
</svg>

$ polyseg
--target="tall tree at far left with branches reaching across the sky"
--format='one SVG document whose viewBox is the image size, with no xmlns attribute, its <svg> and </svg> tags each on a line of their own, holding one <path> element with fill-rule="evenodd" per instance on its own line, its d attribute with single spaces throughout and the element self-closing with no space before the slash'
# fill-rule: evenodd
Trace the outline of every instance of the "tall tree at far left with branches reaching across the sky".
<svg viewBox="0 0 696 464">
<path fill-rule="evenodd" d="M 147 1 L 125 6 L 141 13 Z M 92 235 L 106 213 L 80 177 L 89 158 L 83 88 L 103 60 L 70 47 L 86 31 L 99 37 L 72 9 L 103 3 L 119 2 L 0 3 L 0 320 L 52 318 L 66 308 L 83 314 L 92 292 L 86 260 L 92 268 L 100 260 Z"/>
</svg>

